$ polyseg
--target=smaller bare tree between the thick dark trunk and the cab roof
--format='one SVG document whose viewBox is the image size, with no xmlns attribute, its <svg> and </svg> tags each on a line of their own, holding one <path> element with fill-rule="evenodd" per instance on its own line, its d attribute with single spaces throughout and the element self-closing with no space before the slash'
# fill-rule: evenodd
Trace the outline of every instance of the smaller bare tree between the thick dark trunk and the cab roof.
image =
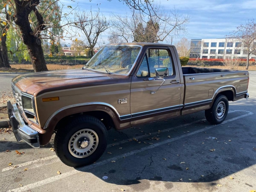
<svg viewBox="0 0 256 192">
<path fill-rule="evenodd" d="M 84 22 L 86 21 L 86 22 Z M 93 55 L 93 47 L 96 45 L 99 36 L 110 27 L 109 22 L 103 15 L 100 16 L 99 9 L 97 12 L 92 11 L 76 11 L 74 18 L 74 27 L 82 31 L 90 48 L 91 56 Z"/>
</svg>

